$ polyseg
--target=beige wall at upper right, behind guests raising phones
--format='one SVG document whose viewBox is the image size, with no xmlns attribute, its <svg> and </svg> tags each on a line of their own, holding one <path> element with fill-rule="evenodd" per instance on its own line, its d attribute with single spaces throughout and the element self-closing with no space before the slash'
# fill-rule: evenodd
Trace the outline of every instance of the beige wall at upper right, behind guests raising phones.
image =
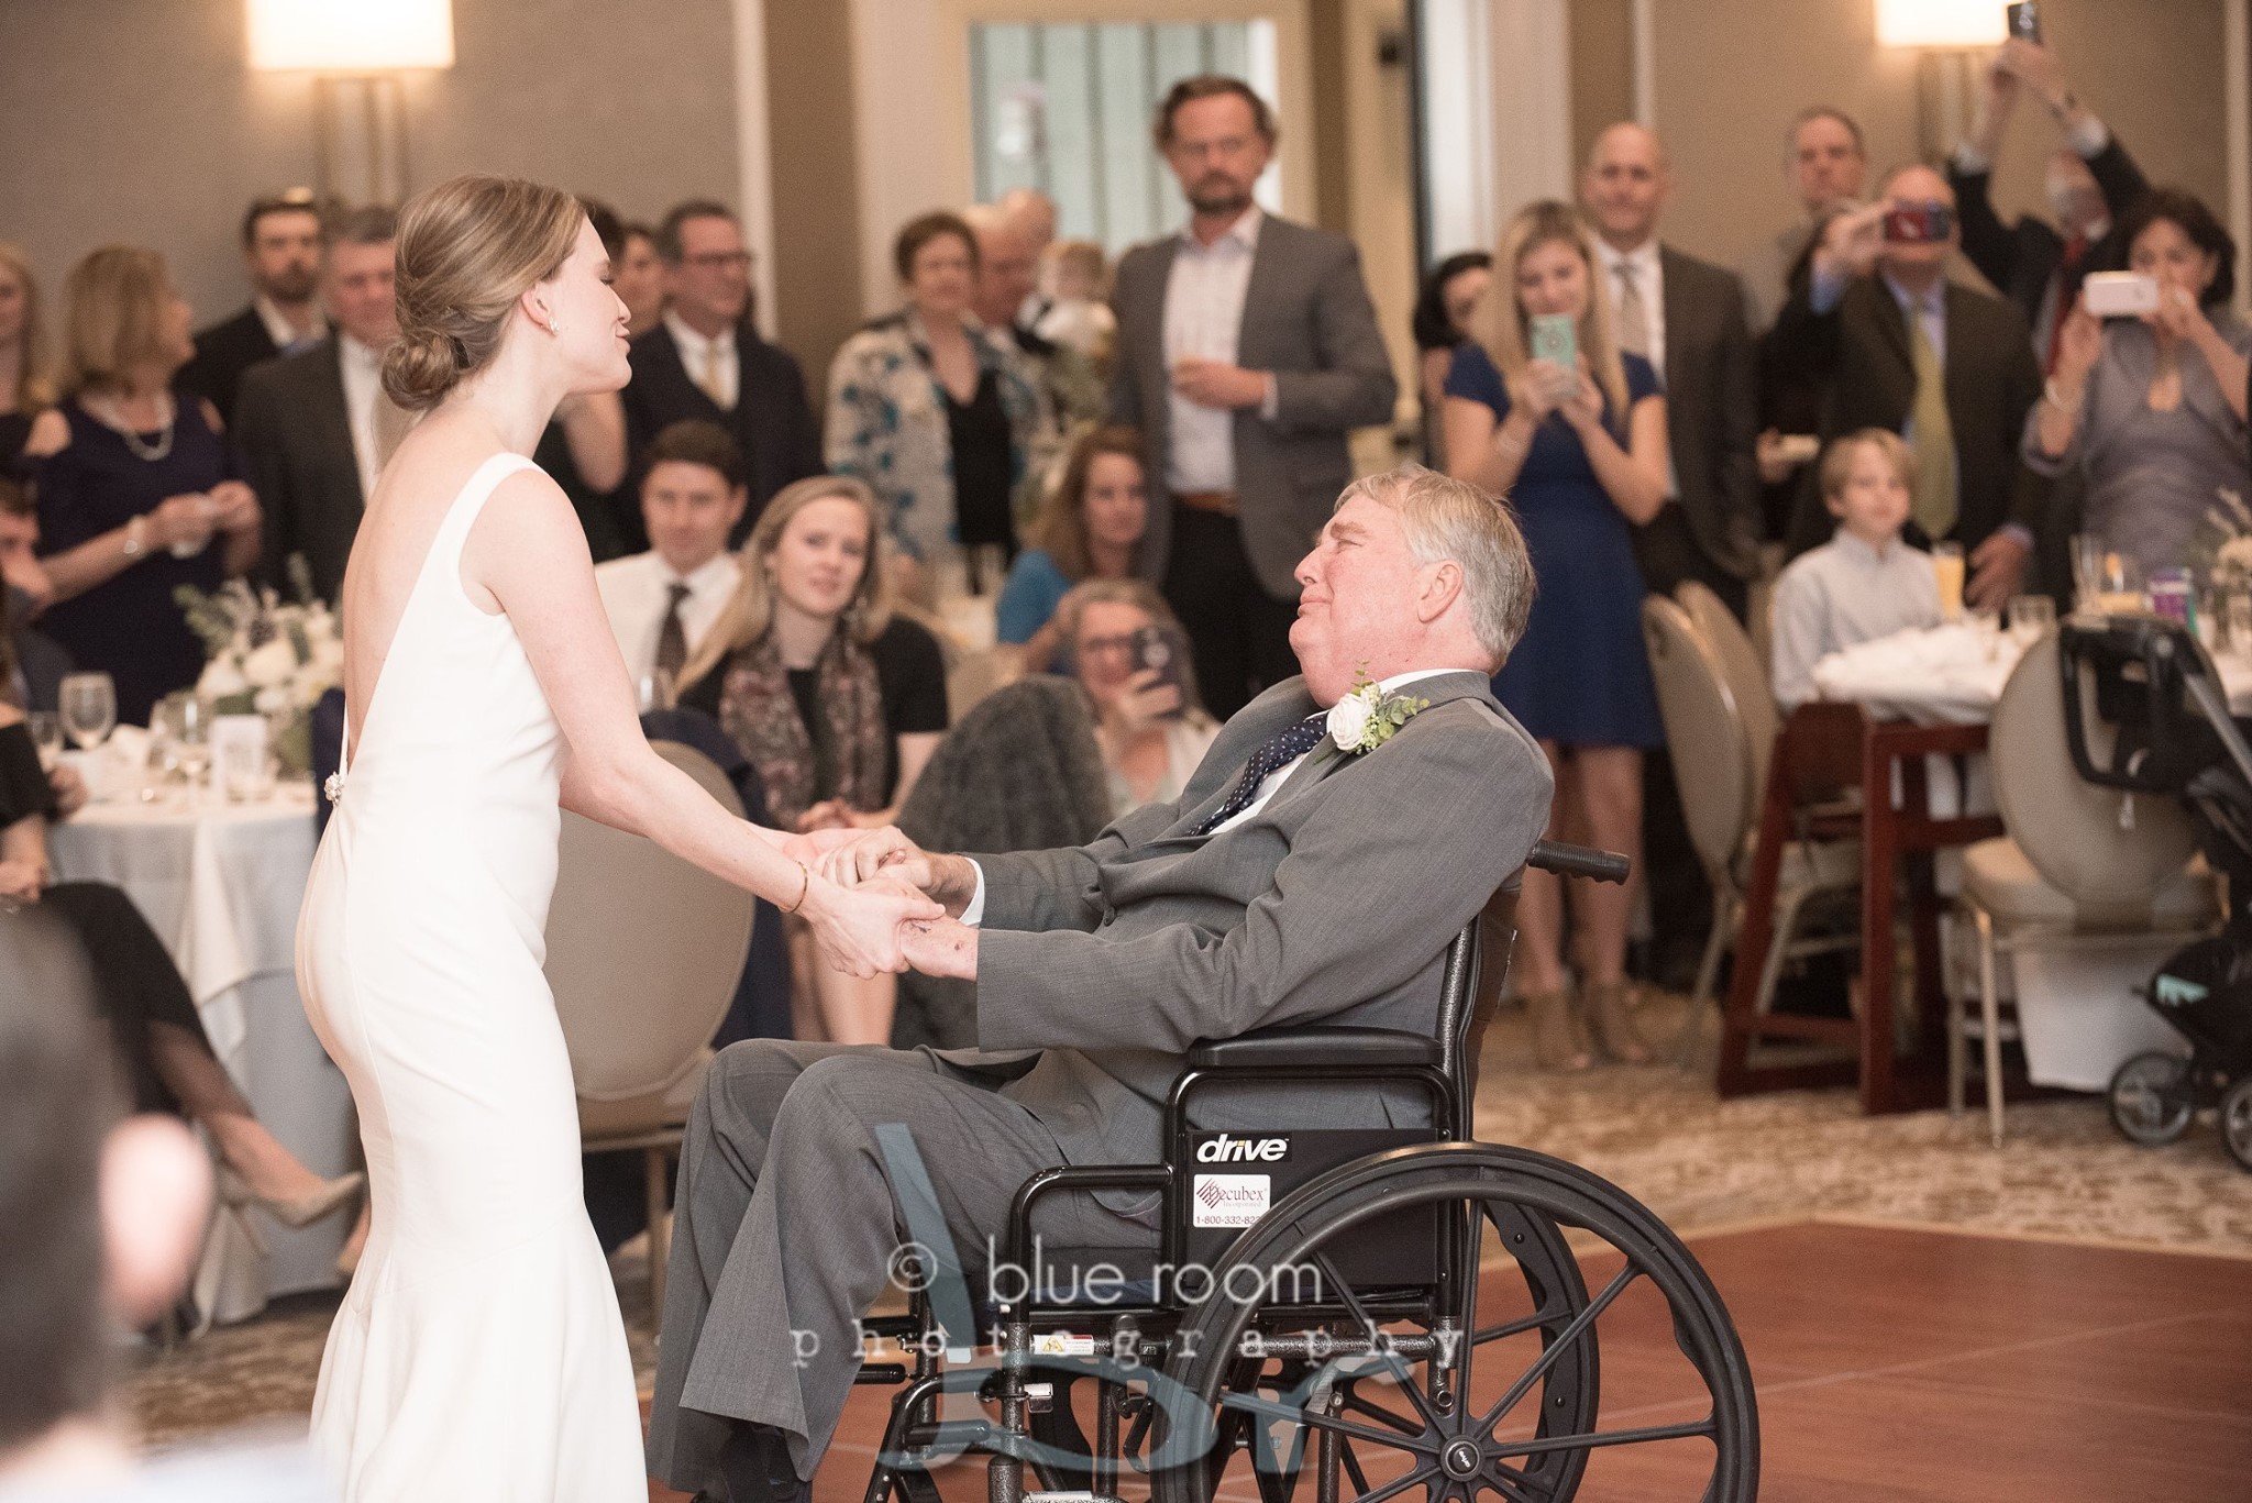
<svg viewBox="0 0 2252 1503">
<path fill-rule="evenodd" d="M 2220 0 L 2040 9 L 2081 99 L 2144 171 L 2225 214 Z M 1657 0 L 1655 11 L 1657 128 L 1678 183 L 1666 239 L 1684 250 L 1734 261 L 1790 219 L 1781 131 L 1808 104 L 1860 119 L 1874 167 L 1916 155 L 1916 59 L 1876 45 L 1871 0 Z M 2020 104 L 1995 174 L 2004 214 L 2040 210 L 2054 144 L 2047 110 Z"/>
</svg>

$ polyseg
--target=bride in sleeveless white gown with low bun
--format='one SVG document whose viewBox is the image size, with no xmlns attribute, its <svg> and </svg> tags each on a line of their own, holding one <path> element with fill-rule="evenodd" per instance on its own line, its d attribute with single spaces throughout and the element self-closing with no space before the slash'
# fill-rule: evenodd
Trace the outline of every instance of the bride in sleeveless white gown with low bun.
<svg viewBox="0 0 2252 1503">
<path fill-rule="evenodd" d="M 525 453 L 626 383 L 626 304 L 579 203 L 455 178 L 399 223 L 385 390 L 423 419 L 345 577 L 345 768 L 297 924 L 306 1014 L 351 1082 L 372 1235 L 313 1442 L 347 1503 L 646 1496 L 626 1329 L 579 1181 L 540 973 L 558 809 L 804 913 L 899 969 L 919 895 L 844 892 L 642 737 L 586 536 Z"/>
</svg>

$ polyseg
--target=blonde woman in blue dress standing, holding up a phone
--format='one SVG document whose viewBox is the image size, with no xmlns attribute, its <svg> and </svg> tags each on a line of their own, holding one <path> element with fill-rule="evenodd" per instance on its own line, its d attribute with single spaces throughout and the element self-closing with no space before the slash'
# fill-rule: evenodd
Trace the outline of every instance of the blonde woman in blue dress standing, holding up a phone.
<svg viewBox="0 0 2252 1503">
<path fill-rule="evenodd" d="M 1538 315 L 1567 315 L 1572 370 L 1529 358 Z M 1642 570 L 1628 523 L 1666 503 L 1666 401 L 1648 361 L 1619 352 L 1588 230 L 1563 203 L 1525 207 L 1493 257 L 1480 336 L 1446 381 L 1448 473 L 1509 493 L 1540 595 L 1493 694 L 1556 768 L 1552 834 L 1642 852 L 1642 750 L 1660 746 L 1657 692 L 1642 651 Z M 1525 872 L 1518 976 L 1549 1068 L 1581 1070 L 1588 1046 L 1565 991 L 1563 886 Z M 1574 890 L 1581 1012 L 1615 1059 L 1648 1059 L 1626 982 L 1633 892 Z"/>
</svg>

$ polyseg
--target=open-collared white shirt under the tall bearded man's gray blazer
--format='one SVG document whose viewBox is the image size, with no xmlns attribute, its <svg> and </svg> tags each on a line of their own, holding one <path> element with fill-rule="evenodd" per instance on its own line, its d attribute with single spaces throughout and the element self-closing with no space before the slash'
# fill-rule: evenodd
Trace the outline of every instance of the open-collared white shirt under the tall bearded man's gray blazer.
<svg viewBox="0 0 2252 1503">
<path fill-rule="evenodd" d="M 1227 232 L 1205 246 L 1189 230 L 1173 248 L 1173 268 L 1164 277 L 1164 370 L 1171 376 L 1182 356 L 1236 365 L 1236 336 L 1243 333 L 1243 297 L 1252 286 L 1252 259 L 1259 255 L 1259 225 L 1266 216 L 1252 205 L 1227 225 Z M 1275 379 L 1268 376 L 1266 417 L 1275 417 Z M 1167 385 L 1164 484 L 1176 496 L 1185 491 L 1236 489 L 1236 415 L 1207 408 Z"/>
</svg>

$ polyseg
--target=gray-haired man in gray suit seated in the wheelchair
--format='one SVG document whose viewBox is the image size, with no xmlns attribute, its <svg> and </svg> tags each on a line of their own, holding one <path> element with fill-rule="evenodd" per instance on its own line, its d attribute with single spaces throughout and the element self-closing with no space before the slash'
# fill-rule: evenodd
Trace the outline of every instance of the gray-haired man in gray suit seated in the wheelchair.
<svg viewBox="0 0 2252 1503">
<path fill-rule="evenodd" d="M 883 829 L 822 856 L 840 881 L 908 877 L 957 915 L 910 928 L 903 949 L 977 982 L 980 1048 L 754 1039 L 712 1064 L 680 1165 L 653 1476 L 730 1503 L 781 1503 L 813 1476 L 908 1206 L 944 1215 L 982 1266 L 1034 1172 L 1160 1156 L 1164 1097 L 1196 1041 L 1437 1025 L 1441 951 L 1549 813 L 1547 759 L 1489 690 L 1525 631 L 1531 559 L 1491 496 L 1405 469 L 1347 489 L 1295 572 L 1304 676 L 1236 714 L 1180 800 L 1079 850 L 944 856 Z M 1414 705 L 1396 735 L 1340 739 L 1356 714 L 1333 708 L 1362 678 Z M 1362 1088 L 1200 1124 L 1378 1127 L 1412 1111 Z M 928 1183 L 894 1179 L 894 1124 Z M 1054 1212 L 1049 1246 L 1155 1246 L 1155 1197 Z"/>
</svg>

